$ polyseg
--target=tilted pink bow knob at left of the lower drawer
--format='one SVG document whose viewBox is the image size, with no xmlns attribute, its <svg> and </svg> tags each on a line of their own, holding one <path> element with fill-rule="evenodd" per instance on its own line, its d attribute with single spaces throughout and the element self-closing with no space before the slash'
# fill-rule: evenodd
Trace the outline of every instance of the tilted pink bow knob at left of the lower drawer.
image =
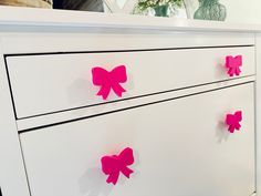
<svg viewBox="0 0 261 196">
<path fill-rule="evenodd" d="M 119 155 L 104 156 L 101 159 L 102 171 L 108 175 L 107 183 L 116 185 L 119 176 L 119 172 L 129 178 L 133 171 L 128 168 L 128 165 L 134 163 L 133 149 L 126 147 Z"/>
</svg>

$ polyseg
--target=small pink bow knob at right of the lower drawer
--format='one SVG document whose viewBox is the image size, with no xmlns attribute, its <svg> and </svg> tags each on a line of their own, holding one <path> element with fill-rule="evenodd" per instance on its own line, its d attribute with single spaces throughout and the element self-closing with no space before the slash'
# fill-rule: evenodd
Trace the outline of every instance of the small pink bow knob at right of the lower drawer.
<svg viewBox="0 0 261 196">
<path fill-rule="evenodd" d="M 240 130 L 240 122 L 242 121 L 242 112 L 237 111 L 234 114 L 227 114 L 226 123 L 229 126 L 228 131 L 233 133 L 234 130 Z"/>
</svg>

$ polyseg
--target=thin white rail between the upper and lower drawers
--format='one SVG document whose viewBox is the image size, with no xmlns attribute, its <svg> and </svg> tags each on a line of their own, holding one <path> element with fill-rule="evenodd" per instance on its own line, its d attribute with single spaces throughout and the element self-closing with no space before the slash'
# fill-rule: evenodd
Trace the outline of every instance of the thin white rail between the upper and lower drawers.
<svg viewBox="0 0 261 196">
<path fill-rule="evenodd" d="M 92 106 L 92 107 L 83 107 L 79 110 L 60 112 L 60 113 L 54 113 L 54 114 L 49 114 L 49 115 L 40 115 L 35 117 L 18 120 L 17 126 L 18 126 L 18 131 L 25 131 L 30 128 L 40 127 L 40 126 L 69 122 L 72 120 L 79 120 L 79 118 L 90 117 L 94 115 L 106 114 L 113 111 L 119 111 L 119 110 L 124 110 L 128 107 L 146 105 L 148 103 L 154 103 L 158 101 L 189 96 L 189 95 L 201 93 L 201 92 L 208 92 L 211 90 L 223 89 L 223 87 L 233 86 L 233 85 L 242 84 L 246 82 L 254 82 L 254 81 L 255 81 L 255 76 L 248 76 L 248 78 L 223 81 L 223 82 L 218 82 L 218 83 L 208 84 L 208 85 L 200 85 L 197 87 L 188 87 L 188 89 L 182 89 L 179 91 L 171 91 L 168 93 L 143 96 L 139 99 L 132 99 L 124 102 L 101 104 L 101 105 Z"/>
</svg>

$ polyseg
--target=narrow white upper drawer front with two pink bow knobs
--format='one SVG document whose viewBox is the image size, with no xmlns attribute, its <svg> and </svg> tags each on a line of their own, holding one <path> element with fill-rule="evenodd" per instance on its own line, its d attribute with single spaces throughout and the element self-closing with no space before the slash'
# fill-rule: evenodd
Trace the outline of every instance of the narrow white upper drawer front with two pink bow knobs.
<svg viewBox="0 0 261 196">
<path fill-rule="evenodd" d="M 60 112 L 127 97 L 232 79 L 227 55 L 242 55 L 241 75 L 254 74 L 254 48 L 216 48 L 7 56 L 17 117 Z M 96 95 L 92 69 L 126 66 L 126 90 L 107 100 Z M 101 75 L 100 75 L 101 76 Z"/>
</svg>

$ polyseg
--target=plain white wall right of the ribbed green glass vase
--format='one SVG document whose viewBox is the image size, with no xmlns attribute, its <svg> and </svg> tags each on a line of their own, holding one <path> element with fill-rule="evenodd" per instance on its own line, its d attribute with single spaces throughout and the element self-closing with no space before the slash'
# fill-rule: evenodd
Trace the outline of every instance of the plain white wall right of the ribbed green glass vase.
<svg viewBox="0 0 261 196">
<path fill-rule="evenodd" d="M 261 23 L 261 0 L 220 0 L 227 7 L 227 20 L 237 23 Z"/>
</svg>

